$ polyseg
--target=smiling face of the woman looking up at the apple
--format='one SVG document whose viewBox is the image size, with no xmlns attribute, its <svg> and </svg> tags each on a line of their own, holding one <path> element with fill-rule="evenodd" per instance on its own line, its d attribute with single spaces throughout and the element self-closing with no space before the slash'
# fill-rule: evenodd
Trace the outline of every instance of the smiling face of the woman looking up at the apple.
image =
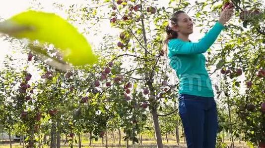
<svg viewBox="0 0 265 148">
<path fill-rule="evenodd" d="M 186 13 L 179 14 L 178 24 L 173 27 L 173 30 L 183 35 L 192 34 L 193 33 L 192 19 Z"/>
</svg>

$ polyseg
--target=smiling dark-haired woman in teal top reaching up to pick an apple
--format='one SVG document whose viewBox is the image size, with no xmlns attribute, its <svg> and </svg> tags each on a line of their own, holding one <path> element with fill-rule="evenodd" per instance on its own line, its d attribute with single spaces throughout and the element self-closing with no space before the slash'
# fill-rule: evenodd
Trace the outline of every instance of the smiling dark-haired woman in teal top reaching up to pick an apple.
<svg viewBox="0 0 265 148">
<path fill-rule="evenodd" d="M 180 80 L 179 113 L 188 148 L 215 148 L 217 110 L 202 53 L 216 40 L 233 11 L 234 5 L 230 4 L 215 25 L 196 43 L 189 40 L 193 22 L 184 11 L 174 13 L 166 28 L 163 53 L 168 56 L 170 66 Z"/>
</svg>

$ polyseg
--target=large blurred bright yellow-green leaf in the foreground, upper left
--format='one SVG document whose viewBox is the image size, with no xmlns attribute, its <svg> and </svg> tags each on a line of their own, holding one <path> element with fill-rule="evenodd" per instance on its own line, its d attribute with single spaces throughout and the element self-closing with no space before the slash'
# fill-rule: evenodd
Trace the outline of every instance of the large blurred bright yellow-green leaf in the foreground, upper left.
<svg viewBox="0 0 265 148">
<path fill-rule="evenodd" d="M 70 23 L 54 13 L 29 10 L 0 23 L 0 32 L 40 43 L 52 43 L 61 50 L 64 61 L 74 66 L 92 64 L 97 57 L 86 38 Z"/>
</svg>

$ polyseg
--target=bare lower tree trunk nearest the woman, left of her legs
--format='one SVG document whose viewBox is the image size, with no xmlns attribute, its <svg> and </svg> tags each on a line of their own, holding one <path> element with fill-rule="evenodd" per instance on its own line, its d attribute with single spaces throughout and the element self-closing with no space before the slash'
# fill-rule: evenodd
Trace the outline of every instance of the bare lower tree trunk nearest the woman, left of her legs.
<svg viewBox="0 0 265 148">
<path fill-rule="evenodd" d="M 163 148 L 162 137 L 161 137 L 156 108 L 152 110 L 152 116 L 153 116 L 153 122 L 154 122 L 154 128 L 155 128 L 157 148 Z"/>
</svg>

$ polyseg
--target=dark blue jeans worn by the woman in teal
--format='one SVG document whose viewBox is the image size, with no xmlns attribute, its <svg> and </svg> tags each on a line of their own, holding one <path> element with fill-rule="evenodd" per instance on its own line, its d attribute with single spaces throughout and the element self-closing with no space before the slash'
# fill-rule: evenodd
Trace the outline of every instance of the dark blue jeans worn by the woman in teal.
<svg viewBox="0 0 265 148">
<path fill-rule="evenodd" d="M 180 94 L 179 113 L 188 148 L 215 148 L 218 121 L 213 97 Z"/>
</svg>

